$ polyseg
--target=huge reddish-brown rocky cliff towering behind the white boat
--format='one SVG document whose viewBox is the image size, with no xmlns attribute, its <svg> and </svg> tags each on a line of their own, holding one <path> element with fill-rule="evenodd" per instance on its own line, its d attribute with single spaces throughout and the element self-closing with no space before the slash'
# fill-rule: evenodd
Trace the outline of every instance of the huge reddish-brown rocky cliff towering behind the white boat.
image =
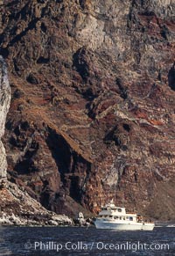
<svg viewBox="0 0 175 256">
<path fill-rule="evenodd" d="M 8 177 L 75 214 L 114 196 L 172 219 L 175 4 L 1 1 Z"/>
</svg>

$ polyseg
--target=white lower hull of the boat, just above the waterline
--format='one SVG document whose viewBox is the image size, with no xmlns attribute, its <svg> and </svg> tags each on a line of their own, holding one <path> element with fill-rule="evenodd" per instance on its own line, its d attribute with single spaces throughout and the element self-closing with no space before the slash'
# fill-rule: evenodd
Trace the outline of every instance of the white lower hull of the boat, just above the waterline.
<svg viewBox="0 0 175 256">
<path fill-rule="evenodd" d="M 154 223 L 115 223 L 96 220 L 95 227 L 104 230 L 153 230 Z"/>
</svg>

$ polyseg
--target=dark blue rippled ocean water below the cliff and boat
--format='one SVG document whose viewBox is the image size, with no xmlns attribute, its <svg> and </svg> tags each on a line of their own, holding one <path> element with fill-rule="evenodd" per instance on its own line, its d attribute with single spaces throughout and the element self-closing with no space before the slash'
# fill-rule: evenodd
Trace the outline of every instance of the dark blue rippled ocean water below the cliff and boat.
<svg viewBox="0 0 175 256">
<path fill-rule="evenodd" d="M 175 255 L 175 227 L 153 231 L 0 227 L 0 256 Z"/>
</svg>

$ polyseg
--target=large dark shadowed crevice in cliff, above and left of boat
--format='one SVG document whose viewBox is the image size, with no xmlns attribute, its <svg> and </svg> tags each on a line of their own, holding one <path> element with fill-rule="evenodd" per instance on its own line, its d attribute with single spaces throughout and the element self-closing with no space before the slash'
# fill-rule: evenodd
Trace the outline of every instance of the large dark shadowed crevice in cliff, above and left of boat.
<svg viewBox="0 0 175 256">
<path fill-rule="evenodd" d="M 81 202 L 91 164 L 71 149 L 66 140 L 51 128 L 48 128 L 46 143 L 58 166 L 64 188 L 73 200 Z"/>
</svg>

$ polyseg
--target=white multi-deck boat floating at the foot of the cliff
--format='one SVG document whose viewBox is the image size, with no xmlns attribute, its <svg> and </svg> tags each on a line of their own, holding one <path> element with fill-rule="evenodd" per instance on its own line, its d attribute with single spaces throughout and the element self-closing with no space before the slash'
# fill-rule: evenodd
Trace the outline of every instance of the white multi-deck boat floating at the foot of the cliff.
<svg viewBox="0 0 175 256">
<path fill-rule="evenodd" d="M 113 201 L 102 207 L 99 216 L 95 219 L 96 229 L 153 230 L 154 226 L 155 223 L 145 222 L 142 216 L 126 213 L 125 208 L 116 207 Z"/>
</svg>

